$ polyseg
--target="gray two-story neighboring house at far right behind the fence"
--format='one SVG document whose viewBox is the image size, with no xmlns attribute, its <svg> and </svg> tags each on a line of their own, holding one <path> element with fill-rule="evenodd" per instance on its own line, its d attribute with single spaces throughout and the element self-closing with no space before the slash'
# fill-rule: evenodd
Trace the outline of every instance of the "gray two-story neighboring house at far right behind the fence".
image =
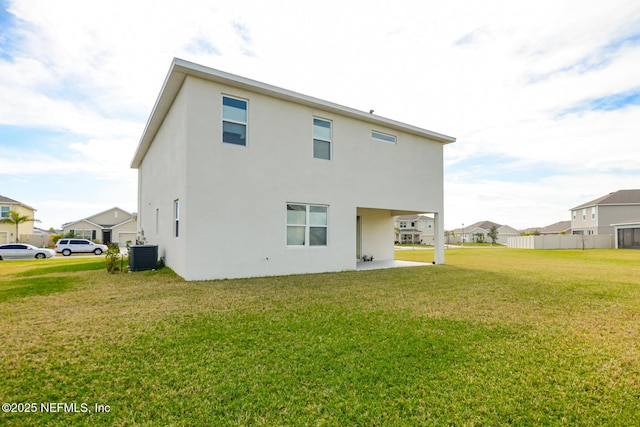
<svg viewBox="0 0 640 427">
<path fill-rule="evenodd" d="M 619 190 L 571 209 L 573 234 L 614 234 L 613 224 L 640 218 L 640 190 Z"/>
</svg>

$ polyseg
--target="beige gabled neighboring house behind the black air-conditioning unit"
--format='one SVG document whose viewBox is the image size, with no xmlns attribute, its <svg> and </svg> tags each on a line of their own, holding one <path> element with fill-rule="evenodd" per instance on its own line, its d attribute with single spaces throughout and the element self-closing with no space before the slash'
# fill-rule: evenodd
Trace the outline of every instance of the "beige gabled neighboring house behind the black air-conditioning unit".
<svg viewBox="0 0 640 427">
<path fill-rule="evenodd" d="M 118 243 L 126 246 L 127 242 L 135 244 L 137 236 L 136 214 L 114 207 L 78 221 L 62 226 L 62 234 L 81 239 L 94 240 L 106 244 Z"/>
</svg>

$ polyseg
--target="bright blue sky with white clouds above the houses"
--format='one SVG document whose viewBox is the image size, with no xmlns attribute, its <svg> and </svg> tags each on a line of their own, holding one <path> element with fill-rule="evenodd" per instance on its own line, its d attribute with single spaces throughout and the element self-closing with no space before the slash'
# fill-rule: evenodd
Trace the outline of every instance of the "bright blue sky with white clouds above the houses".
<svg viewBox="0 0 640 427">
<path fill-rule="evenodd" d="M 173 57 L 457 137 L 448 229 L 640 188 L 635 0 L 0 0 L 0 194 L 44 228 L 136 211 Z"/>
</svg>

